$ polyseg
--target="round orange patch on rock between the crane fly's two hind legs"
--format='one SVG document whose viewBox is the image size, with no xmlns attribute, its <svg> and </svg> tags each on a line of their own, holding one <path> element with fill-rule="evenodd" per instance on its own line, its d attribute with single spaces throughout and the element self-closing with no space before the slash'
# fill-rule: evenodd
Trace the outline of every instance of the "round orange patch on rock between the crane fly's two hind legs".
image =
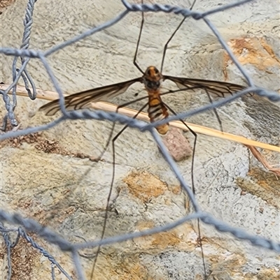
<svg viewBox="0 0 280 280">
<path fill-rule="evenodd" d="M 167 191 L 167 184 L 147 171 L 132 172 L 123 179 L 123 182 L 127 184 L 132 196 L 139 198 L 144 203 Z"/>
</svg>

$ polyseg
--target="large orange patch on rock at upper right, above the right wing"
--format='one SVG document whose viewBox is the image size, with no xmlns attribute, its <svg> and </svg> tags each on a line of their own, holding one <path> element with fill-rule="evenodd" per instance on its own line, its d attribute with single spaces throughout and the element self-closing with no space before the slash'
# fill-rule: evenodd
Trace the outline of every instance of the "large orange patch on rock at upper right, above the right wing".
<svg viewBox="0 0 280 280">
<path fill-rule="evenodd" d="M 231 39 L 228 45 L 243 65 L 253 64 L 260 70 L 265 70 L 269 66 L 280 66 L 280 60 L 264 38 Z M 225 65 L 228 65 L 229 61 L 231 59 L 228 53 L 225 52 Z"/>
</svg>

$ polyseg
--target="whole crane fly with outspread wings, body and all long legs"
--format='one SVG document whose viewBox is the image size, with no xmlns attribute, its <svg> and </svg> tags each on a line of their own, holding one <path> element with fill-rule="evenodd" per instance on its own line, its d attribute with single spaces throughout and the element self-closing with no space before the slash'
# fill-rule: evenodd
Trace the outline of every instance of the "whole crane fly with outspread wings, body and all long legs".
<svg viewBox="0 0 280 280">
<path fill-rule="evenodd" d="M 142 3 L 143 3 L 143 1 L 142 1 Z M 193 8 L 194 4 L 195 4 L 195 1 L 193 2 L 190 9 Z M 125 107 L 125 106 L 135 103 L 137 101 L 141 101 L 141 100 L 144 100 L 145 98 L 148 98 L 148 102 L 146 102 L 146 104 L 142 106 L 142 108 L 137 112 L 137 114 L 134 115 L 134 118 L 136 118 L 137 115 L 139 115 L 139 113 L 141 111 L 143 111 L 145 108 L 148 108 L 148 117 L 149 117 L 150 121 L 153 123 L 154 121 L 160 121 L 162 119 L 166 119 L 169 116 L 169 111 L 172 112 L 172 114 L 176 115 L 176 112 L 174 112 L 174 110 L 172 110 L 172 108 L 170 108 L 169 105 L 167 105 L 167 103 L 162 101 L 162 96 L 164 96 L 166 94 L 176 94 L 176 92 L 180 92 L 180 91 L 196 91 L 197 89 L 202 89 L 207 93 L 207 95 L 209 97 L 209 101 L 211 102 L 210 94 L 212 94 L 214 96 L 218 96 L 218 97 L 225 97 L 229 94 L 235 94 L 237 91 L 241 91 L 246 88 L 239 84 L 232 84 L 230 82 L 220 82 L 220 81 L 215 81 L 215 80 L 201 80 L 201 79 L 194 79 L 194 78 L 181 78 L 181 77 L 174 77 L 174 76 L 170 76 L 170 75 L 162 75 L 162 68 L 163 68 L 163 64 L 164 64 L 164 60 L 165 60 L 167 46 L 168 46 L 169 42 L 172 40 L 172 38 L 174 37 L 174 35 L 176 34 L 176 32 L 179 30 L 179 28 L 181 27 L 183 22 L 186 20 L 186 17 L 183 18 L 183 20 L 181 21 L 179 26 L 175 29 L 174 33 L 172 34 L 172 36 L 170 36 L 169 40 L 167 40 L 167 43 L 165 44 L 160 71 L 155 66 L 149 66 L 148 68 L 146 68 L 145 72 L 142 71 L 141 68 L 139 67 L 139 65 L 137 64 L 137 52 L 138 52 L 138 48 L 139 48 L 141 32 L 142 32 L 142 29 L 144 26 L 144 13 L 141 13 L 141 15 L 142 15 L 141 27 L 140 27 L 140 32 L 139 32 L 139 38 L 137 41 L 136 52 L 134 54 L 134 61 L 133 61 L 134 66 L 136 66 L 139 69 L 139 71 L 142 73 L 141 77 L 135 78 L 132 80 L 127 80 L 125 82 L 110 84 L 110 85 L 107 85 L 104 87 L 97 87 L 95 89 L 81 91 L 76 94 L 71 94 L 69 96 L 66 96 L 64 98 L 64 105 L 67 110 L 81 110 L 81 109 L 88 108 L 90 103 L 92 103 L 92 102 L 108 101 L 110 98 L 116 97 L 120 94 L 124 94 L 125 91 L 127 91 L 127 89 L 132 86 L 132 84 L 140 82 L 141 84 L 144 84 L 144 88 L 147 91 L 147 96 L 137 98 L 136 100 L 127 102 L 123 105 L 119 105 L 116 109 L 116 112 L 118 112 L 118 110 L 122 107 Z M 163 82 L 165 82 L 165 80 L 174 82 L 179 89 L 162 92 L 162 84 L 163 84 Z M 253 94 L 251 94 L 251 95 L 253 95 Z M 43 105 L 39 110 L 45 112 L 45 115 L 48 115 L 48 116 L 55 115 L 60 110 L 59 99 Z M 215 112 L 216 117 L 221 126 L 221 121 L 218 117 L 218 112 L 216 112 L 216 109 L 214 109 L 214 112 Z M 193 166 L 194 166 L 194 159 L 195 159 L 195 144 L 196 144 L 196 140 L 197 140 L 197 135 L 190 127 L 188 127 L 188 125 L 183 121 L 183 119 L 180 119 L 180 121 L 182 121 L 183 124 L 188 128 L 188 130 L 191 133 L 193 133 L 193 135 L 195 136 L 194 147 L 193 147 L 192 167 L 191 167 L 193 193 L 195 193 L 195 186 L 194 186 L 194 179 L 193 179 Z M 112 127 L 111 133 L 109 135 L 109 140 L 107 141 L 106 147 L 104 148 L 104 150 L 102 152 L 102 156 L 109 146 L 109 142 L 111 141 L 111 138 L 113 136 L 114 127 L 115 127 L 115 123 L 113 123 L 113 127 Z M 115 159 L 115 144 L 114 143 L 116 142 L 116 140 L 118 139 L 120 134 L 123 133 L 123 131 L 125 131 L 125 128 L 127 128 L 127 125 L 119 133 L 117 133 L 117 135 L 112 140 L 113 176 L 112 176 L 112 180 L 111 180 L 109 196 L 107 198 L 105 219 L 104 219 L 104 224 L 103 224 L 103 228 L 102 228 L 101 239 L 104 238 L 104 234 L 105 234 L 106 221 L 108 219 L 108 212 L 109 212 L 109 201 L 111 198 L 113 182 L 114 182 L 114 177 L 115 177 L 116 159 Z M 167 133 L 167 131 L 169 130 L 169 124 L 168 123 L 162 124 L 160 126 L 156 126 L 155 128 L 157 129 L 158 133 L 160 133 L 161 135 L 165 135 Z M 222 128 L 222 126 L 221 126 L 221 128 Z M 102 156 L 99 156 L 99 159 L 101 159 Z M 198 227 L 198 242 L 200 244 L 201 251 L 202 251 L 204 279 L 207 279 L 206 265 L 204 262 L 204 253 L 203 253 L 203 249 L 202 249 L 202 238 L 201 238 L 201 234 L 200 234 L 199 219 L 197 219 L 197 227 Z M 98 256 L 99 252 L 100 252 L 100 246 L 98 246 L 97 253 L 95 254 L 90 279 L 92 279 L 92 277 L 93 277 L 94 267 L 97 263 L 97 256 Z"/>
</svg>

